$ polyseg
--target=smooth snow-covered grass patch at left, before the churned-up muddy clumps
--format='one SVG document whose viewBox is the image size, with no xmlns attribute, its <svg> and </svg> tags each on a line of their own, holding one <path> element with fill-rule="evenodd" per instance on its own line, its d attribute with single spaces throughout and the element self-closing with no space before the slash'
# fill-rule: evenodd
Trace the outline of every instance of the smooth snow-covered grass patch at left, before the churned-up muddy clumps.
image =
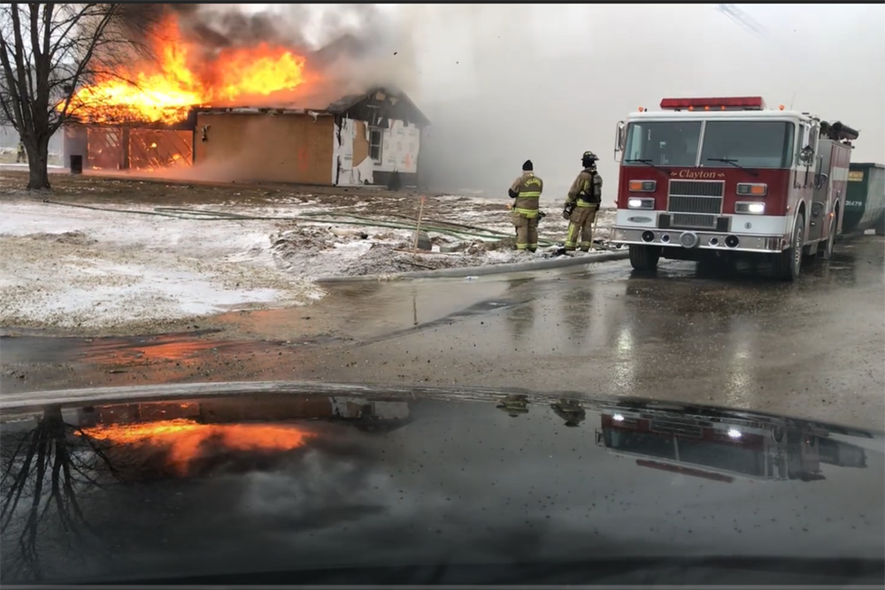
<svg viewBox="0 0 885 590">
<path fill-rule="evenodd" d="M 150 329 L 254 305 L 297 305 L 318 287 L 277 269 L 270 229 L 0 204 L 4 326 Z"/>
</svg>

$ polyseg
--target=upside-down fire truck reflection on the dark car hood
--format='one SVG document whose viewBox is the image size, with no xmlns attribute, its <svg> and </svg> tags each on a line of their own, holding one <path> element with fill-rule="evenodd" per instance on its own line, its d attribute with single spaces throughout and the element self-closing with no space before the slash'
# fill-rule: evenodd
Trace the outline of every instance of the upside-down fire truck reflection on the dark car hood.
<svg viewBox="0 0 885 590">
<path fill-rule="evenodd" d="M 693 410 L 604 408 L 596 444 L 636 456 L 651 469 L 731 483 L 741 479 L 825 479 L 821 464 L 866 467 L 863 448 L 828 438 L 807 422 Z"/>
</svg>

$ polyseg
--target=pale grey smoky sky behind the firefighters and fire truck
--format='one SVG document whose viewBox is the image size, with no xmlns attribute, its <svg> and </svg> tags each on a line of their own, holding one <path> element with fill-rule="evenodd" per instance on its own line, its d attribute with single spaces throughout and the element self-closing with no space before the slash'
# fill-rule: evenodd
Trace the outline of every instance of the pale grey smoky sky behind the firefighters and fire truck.
<svg viewBox="0 0 885 590">
<path fill-rule="evenodd" d="M 415 4 L 419 90 L 432 121 L 422 142 L 435 188 L 493 195 L 530 158 L 559 200 L 586 149 L 601 158 L 604 203 L 617 185 L 615 126 L 665 96 L 764 96 L 861 130 L 853 157 L 885 161 L 878 115 L 885 45 L 878 5 L 739 4 L 747 31 L 713 4 Z M 854 80 L 848 82 L 848 80 Z M 859 85 L 859 86 L 855 86 Z M 880 127 L 882 127 L 880 129 Z M 547 195 L 550 195 L 549 197 Z"/>
</svg>

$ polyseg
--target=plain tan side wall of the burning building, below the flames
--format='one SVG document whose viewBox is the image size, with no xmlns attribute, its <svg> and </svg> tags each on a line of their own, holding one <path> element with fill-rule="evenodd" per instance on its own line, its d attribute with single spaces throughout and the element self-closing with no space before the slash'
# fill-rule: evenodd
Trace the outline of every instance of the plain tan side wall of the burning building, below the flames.
<svg viewBox="0 0 885 590">
<path fill-rule="evenodd" d="M 201 112 L 194 163 L 223 166 L 243 181 L 330 185 L 334 140 L 330 115 Z"/>
</svg>

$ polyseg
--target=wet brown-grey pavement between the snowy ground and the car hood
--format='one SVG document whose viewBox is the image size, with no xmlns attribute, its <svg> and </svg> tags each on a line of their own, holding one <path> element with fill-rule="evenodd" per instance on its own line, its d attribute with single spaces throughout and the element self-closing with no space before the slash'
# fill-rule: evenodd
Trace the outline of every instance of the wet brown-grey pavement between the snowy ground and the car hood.
<svg viewBox="0 0 885 590">
<path fill-rule="evenodd" d="M 664 262 L 335 286 L 141 339 L 0 339 L 0 391 L 193 380 L 526 387 L 885 425 L 885 240 L 840 244 L 795 284 Z M 49 341 L 49 342 L 47 342 Z"/>
</svg>

